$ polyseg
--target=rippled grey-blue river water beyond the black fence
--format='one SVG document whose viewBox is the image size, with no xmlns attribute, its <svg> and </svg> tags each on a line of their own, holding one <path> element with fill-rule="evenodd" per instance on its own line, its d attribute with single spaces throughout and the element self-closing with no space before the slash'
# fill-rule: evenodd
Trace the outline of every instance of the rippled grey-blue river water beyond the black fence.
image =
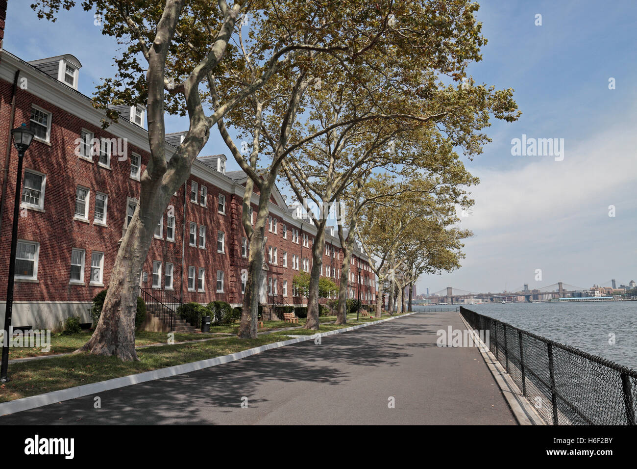
<svg viewBox="0 0 637 469">
<path fill-rule="evenodd" d="M 495 303 L 465 307 L 637 369 L 637 301 Z M 614 343 L 609 343 L 612 342 L 609 334 L 614 334 Z"/>
</svg>

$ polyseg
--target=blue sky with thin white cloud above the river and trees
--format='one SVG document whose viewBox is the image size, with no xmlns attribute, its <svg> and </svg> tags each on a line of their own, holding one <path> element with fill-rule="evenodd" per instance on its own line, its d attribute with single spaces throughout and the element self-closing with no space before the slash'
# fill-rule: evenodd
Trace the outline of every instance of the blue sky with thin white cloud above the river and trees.
<svg viewBox="0 0 637 469">
<path fill-rule="evenodd" d="M 418 292 L 637 279 L 637 2 L 479 3 L 488 43 L 469 74 L 513 88 L 522 117 L 493 121 L 483 153 L 463 157 L 481 181 L 471 188 L 473 211 L 461 218 L 474 236 L 462 267 L 420 278 Z M 75 8 L 50 23 L 29 4 L 9 2 L 4 48 L 26 61 L 73 54 L 83 66 L 79 89 L 90 96 L 100 77 L 114 74 L 115 41 L 92 13 Z M 166 128 L 185 130 L 187 119 L 168 116 Z M 557 139 L 560 152 L 512 154 L 515 138 Z M 202 154 L 217 153 L 227 151 L 211 132 Z M 227 170 L 236 169 L 230 158 Z"/>
</svg>

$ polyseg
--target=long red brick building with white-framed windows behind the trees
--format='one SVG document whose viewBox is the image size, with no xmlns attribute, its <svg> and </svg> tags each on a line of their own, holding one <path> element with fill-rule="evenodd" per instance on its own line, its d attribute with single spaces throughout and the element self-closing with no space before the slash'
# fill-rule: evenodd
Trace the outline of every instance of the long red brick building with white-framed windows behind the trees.
<svg viewBox="0 0 637 469">
<path fill-rule="evenodd" d="M 77 90 L 81 67 L 71 54 L 27 63 L 0 52 L 0 325 L 17 179 L 11 128 L 25 123 L 36 131 L 24 156 L 14 326 L 59 329 L 69 315 L 90 322 L 90 301 L 108 287 L 120 239 L 139 197 L 140 175 L 150 156 L 145 109 L 120 107 L 119 122 L 102 130 L 103 112 Z M 167 158 L 181 138 L 180 133 L 166 135 Z M 161 289 L 181 302 L 241 304 L 241 271 L 247 267 L 241 225 L 246 175 L 226 172 L 225 161 L 222 154 L 195 161 L 157 226 L 140 287 Z M 258 195 L 252 202 L 256 209 Z M 288 206 L 278 189 L 270 202 L 261 302 L 303 306 L 307 299 L 294 291 L 292 279 L 299 271 L 310 271 L 316 231 L 301 208 Z M 342 256 L 338 236 L 328 233 L 323 274 L 337 285 Z M 348 295 L 359 295 L 359 266 L 361 299 L 371 302 L 375 276 L 359 249 L 352 260 Z"/>
</svg>

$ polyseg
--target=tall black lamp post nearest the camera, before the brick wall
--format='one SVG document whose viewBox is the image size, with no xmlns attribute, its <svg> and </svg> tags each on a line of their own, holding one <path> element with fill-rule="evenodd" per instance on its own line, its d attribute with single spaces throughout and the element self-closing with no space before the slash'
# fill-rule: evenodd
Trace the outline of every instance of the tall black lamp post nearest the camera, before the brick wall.
<svg viewBox="0 0 637 469">
<path fill-rule="evenodd" d="M 11 138 L 13 145 L 18 151 L 18 175 L 15 182 L 15 200 L 13 201 L 13 228 L 11 228 L 11 254 L 9 256 L 9 279 L 6 286 L 6 309 L 4 309 L 4 334 L 6 334 L 7 346 L 2 348 L 2 367 L 0 368 L 0 382 L 6 383 L 9 378 L 6 376 L 9 367 L 9 347 L 8 341 L 11 340 L 11 311 L 13 310 L 13 275 L 15 274 L 15 251 L 18 246 L 18 218 L 20 218 L 20 194 L 22 191 L 22 158 L 24 152 L 27 151 L 34 131 L 22 124 L 22 126 L 11 130 Z"/>
</svg>

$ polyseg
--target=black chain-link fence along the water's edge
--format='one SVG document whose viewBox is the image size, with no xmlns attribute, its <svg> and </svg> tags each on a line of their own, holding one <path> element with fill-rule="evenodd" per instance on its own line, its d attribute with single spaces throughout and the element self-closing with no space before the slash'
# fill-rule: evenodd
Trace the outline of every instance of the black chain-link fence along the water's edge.
<svg viewBox="0 0 637 469">
<path fill-rule="evenodd" d="M 637 371 L 461 306 L 471 328 L 541 417 L 554 425 L 634 425 Z"/>
</svg>

